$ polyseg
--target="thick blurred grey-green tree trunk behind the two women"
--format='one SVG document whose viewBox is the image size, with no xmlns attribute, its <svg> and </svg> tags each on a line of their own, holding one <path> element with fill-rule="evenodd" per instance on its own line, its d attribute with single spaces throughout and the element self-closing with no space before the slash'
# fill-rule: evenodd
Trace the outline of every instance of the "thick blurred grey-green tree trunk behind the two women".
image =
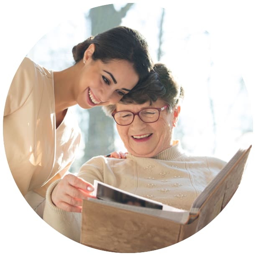
<svg viewBox="0 0 256 256">
<path fill-rule="evenodd" d="M 133 3 L 126 4 L 119 11 L 114 5 L 103 5 L 90 9 L 92 36 L 102 33 L 110 28 L 119 26 Z M 82 161 L 87 161 L 93 156 L 105 155 L 115 150 L 114 123 L 105 116 L 101 107 L 89 110 L 89 127 L 85 138 L 85 154 Z"/>
</svg>

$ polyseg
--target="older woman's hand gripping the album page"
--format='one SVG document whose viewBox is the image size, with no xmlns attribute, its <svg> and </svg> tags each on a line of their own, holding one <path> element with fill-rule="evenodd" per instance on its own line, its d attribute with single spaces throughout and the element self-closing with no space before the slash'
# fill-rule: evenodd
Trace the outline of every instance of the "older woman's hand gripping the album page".
<svg viewBox="0 0 256 256">
<path fill-rule="evenodd" d="M 73 174 L 67 174 L 56 185 L 51 193 L 51 200 L 57 207 L 68 212 L 81 212 L 82 200 L 91 195 L 94 187 L 89 182 L 76 177 Z"/>
</svg>

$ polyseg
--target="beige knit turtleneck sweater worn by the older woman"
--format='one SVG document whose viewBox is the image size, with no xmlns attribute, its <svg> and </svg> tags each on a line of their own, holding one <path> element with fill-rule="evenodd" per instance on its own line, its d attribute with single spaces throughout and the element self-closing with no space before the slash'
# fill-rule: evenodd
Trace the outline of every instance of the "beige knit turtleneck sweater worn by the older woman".
<svg viewBox="0 0 256 256">
<path fill-rule="evenodd" d="M 92 184 L 97 179 L 136 195 L 189 210 L 225 162 L 213 157 L 189 156 L 179 141 L 174 141 L 174 144 L 154 158 L 131 154 L 127 159 L 94 157 L 81 167 L 78 177 Z M 81 214 L 65 212 L 51 201 L 51 191 L 58 182 L 47 191 L 44 220 L 79 242 Z"/>
</svg>

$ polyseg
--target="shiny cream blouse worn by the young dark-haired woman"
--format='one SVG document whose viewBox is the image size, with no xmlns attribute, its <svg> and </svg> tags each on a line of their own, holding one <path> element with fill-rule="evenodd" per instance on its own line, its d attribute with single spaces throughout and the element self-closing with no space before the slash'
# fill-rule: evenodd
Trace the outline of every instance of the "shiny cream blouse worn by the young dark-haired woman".
<svg viewBox="0 0 256 256">
<path fill-rule="evenodd" d="M 74 160 L 80 141 L 77 121 L 68 109 L 56 129 L 53 72 L 31 59 L 22 61 L 10 86 L 3 136 L 10 171 L 23 196 L 35 190 L 44 197 L 49 180 L 61 178 Z"/>
</svg>

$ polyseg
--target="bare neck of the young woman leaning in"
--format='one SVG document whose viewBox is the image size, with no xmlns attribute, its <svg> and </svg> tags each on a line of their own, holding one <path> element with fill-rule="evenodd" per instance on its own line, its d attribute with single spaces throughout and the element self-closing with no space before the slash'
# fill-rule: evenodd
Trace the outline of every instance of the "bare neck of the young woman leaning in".
<svg viewBox="0 0 256 256">
<path fill-rule="evenodd" d="M 78 77 L 79 63 L 62 71 L 54 72 L 55 113 L 60 113 L 77 104 L 75 84 L 77 84 Z"/>
</svg>

